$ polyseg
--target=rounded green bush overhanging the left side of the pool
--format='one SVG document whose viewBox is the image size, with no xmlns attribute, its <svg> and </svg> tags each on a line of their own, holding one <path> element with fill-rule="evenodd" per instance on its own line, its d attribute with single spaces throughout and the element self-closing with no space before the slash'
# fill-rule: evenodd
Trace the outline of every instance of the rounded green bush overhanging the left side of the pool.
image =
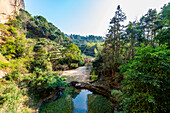
<svg viewBox="0 0 170 113">
<path fill-rule="evenodd" d="M 53 90 L 58 90 L 60 86 L 66 86 L 63 82 L 64 78 L 58 76 L 57 73 L 44 73 L 36 70 L 34 74 L 28 76 L 24 81 L 28 81 L 28 87 L 39 98 L 45 98 L 50 95 Z"/>
</svg>

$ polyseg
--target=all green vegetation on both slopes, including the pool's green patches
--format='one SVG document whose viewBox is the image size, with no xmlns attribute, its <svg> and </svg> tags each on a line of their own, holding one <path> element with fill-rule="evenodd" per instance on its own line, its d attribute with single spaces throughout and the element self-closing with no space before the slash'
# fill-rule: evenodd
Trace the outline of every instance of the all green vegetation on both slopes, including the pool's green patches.
<svg viewBox="0 0 170 113">
<path fill-rule="evenodd" d="M 85 56 L 95 57 L 91 79 L 108 82 L 118 112 L 168 112 L 169 11 L 170 3 L 159 13 L 149 9 L 140 20 L 125 26 L 126 15 L 118 6 L 104 39 L 65 36 L 44 17 L 32 17 L 21 9 L 0 24 L 0 112 L 36 112 L 41 100 L 67 86 L 59 71 L 89 63 Z M 77 94 L 69 87 L 41 112 L 72 112 L 72 98 Z M 106 98 L 88 98 L 89 113 L 113 112 Z M 96 103 L 99 108 L 94 107 Z"/>
</svg>

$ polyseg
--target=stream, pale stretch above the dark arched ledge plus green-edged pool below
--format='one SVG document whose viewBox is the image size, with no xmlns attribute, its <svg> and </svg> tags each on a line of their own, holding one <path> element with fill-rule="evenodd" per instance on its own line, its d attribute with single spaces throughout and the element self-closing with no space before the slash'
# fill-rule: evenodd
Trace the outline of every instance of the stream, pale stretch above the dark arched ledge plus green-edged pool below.
<svg viewBox="0 0 170 113">
<path fill-rule="evenodd" d="M 70 81 L 89 81 L 91 66 L 83 66 L 64 71 L 61 76 Z M 94 94 L 86 89 L 67 87 L 56 101 L 45 103 L 39 113 L 112 113 L 113 103 L 102 95 Z"/>
</svg>

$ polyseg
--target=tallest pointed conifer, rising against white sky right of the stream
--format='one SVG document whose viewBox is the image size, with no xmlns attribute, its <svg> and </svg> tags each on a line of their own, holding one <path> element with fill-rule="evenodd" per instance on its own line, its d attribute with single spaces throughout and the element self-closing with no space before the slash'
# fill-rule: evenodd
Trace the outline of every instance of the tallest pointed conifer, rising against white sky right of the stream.
<svg viewBox="0 0 170 113">
<path fill-rule="evenodd" d="M 101 66 L 100 72 L 105 76 L 115 78 L 115 72 L 118 72 L 118 67 L 122 64 L 122 43 L 123 43 L 123 28 L 121 24 L 126 19 L 125 13 L 120 6 L 117 7 L 115 16 L 111 19 L 109 33 L 107 34 L 104 48 L 101 54 L 103 62 L 98 64 Z"/>
</svg>

